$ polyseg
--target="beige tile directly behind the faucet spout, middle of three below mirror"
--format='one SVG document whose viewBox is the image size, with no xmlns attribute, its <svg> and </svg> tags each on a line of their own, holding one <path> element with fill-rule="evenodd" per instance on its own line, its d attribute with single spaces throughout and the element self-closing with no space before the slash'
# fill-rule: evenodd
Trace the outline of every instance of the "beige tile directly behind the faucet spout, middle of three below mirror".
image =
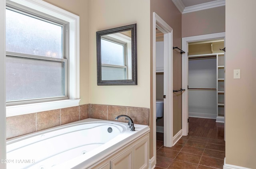
<svg viewBox="0 0 256 169">
<path fill-rule="evenodd" d="M 115 120 L 116 116 L 124 114 L 127 114 L 125 106 L 108 106 L 108 120 L 111 121 L 117 121 Z M 125 118 L 119 118 L 118 122 L 127 122 Z"/>
</svg>

